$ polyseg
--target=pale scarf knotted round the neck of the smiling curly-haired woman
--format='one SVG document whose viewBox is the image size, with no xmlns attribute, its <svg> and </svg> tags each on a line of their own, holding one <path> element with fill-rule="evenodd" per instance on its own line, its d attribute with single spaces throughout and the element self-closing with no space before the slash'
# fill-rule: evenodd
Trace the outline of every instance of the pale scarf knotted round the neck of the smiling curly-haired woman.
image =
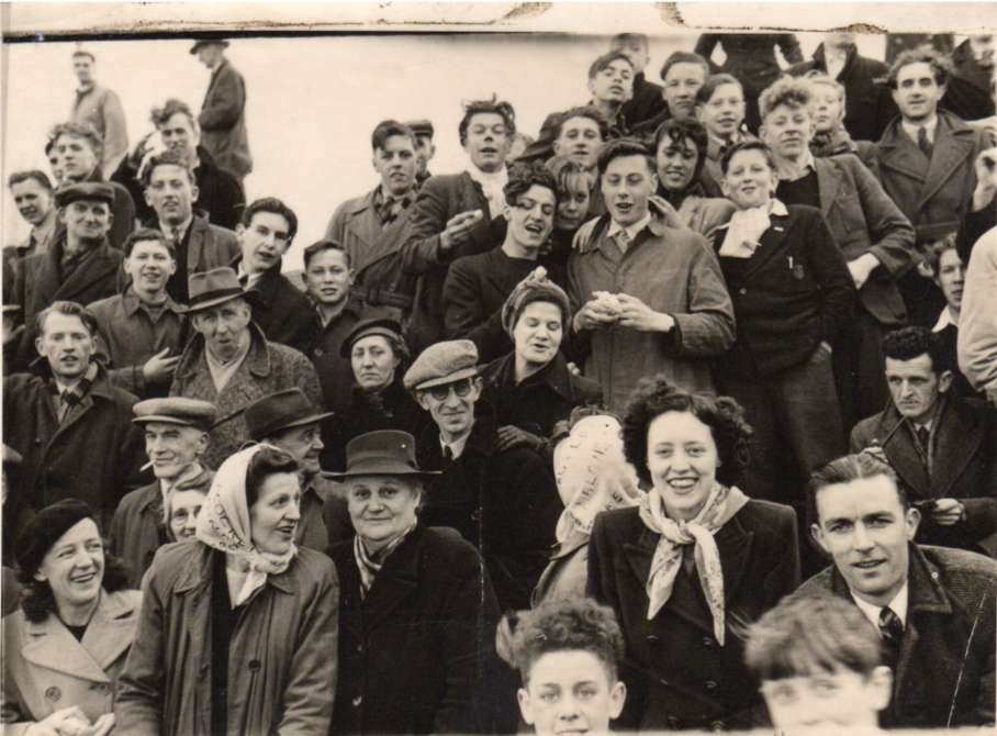
<svg viewBox="0 0 997 736">
<path fill-rule="evenodd" d="M 657 489 L 638 493 L 640 518 L 649 529 L 661 535 L 658 548 L 651 558 L 651 575 L 648 578 L 648 621 L 668 603 L 675 584 L 675 576 L 682 567 L 682 547 L 696 545 L 696 570 L 703 593 L 713 614 L 713 631 L 720 646 L 724 646 L 724 570 L 720 553 L 714 535 L 724 524 L 744 508 L 748 497 L 737 488 L 727 488 L 714 482 L 706 503 L 695 518 L 676 522 L 664 514 L 664 501 Z"/>
</svg>

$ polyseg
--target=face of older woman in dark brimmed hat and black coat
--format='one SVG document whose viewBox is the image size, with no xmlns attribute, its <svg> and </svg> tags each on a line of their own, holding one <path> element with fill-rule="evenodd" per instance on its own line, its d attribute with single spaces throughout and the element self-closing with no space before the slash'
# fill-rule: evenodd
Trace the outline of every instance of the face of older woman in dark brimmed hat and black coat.
<svg viewBox="0 0 997 736">
<path fill-rule="evenodd" d="M 422 491 L 403 476 L 357 476 L 347 480 L 350 521 L 363 546 L 377 553 L 416 521 Z"/>
</svg>

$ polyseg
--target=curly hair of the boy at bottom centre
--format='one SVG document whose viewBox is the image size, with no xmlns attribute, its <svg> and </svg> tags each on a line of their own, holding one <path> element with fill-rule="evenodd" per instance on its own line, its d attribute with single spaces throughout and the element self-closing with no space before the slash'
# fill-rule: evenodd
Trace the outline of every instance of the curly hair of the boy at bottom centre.
<svg viewBox="0 0 997 736">
<path fill-rule="evenodd" d="M 623 632 L 613 609 L 583 596 L 554 599 L 533 611 L 522 611 L 515 631 L 509 616 L 505 616 L 495 645 L 498 655 L 519 670 L 524 687 L 529 683 L 534 663 L 557 651 L 594 655 L 606 667 L 610 682 L 615 682 L 625 653 Z"/>
</svg>

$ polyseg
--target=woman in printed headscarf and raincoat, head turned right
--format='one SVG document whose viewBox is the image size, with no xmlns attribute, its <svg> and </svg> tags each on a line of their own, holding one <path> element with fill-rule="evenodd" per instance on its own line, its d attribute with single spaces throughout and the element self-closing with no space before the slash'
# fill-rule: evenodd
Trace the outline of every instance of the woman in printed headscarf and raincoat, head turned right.
<svg viewBox="0 0 997 736">
<path fill-rule="evenodd" d="M 338 578 L 293 543 L 298 464 L 271 445 L 229 457 L 197 540 L 159 549 L 122 676 L 121 733 L 325 734 L 336 687 Z"/>
</svg>

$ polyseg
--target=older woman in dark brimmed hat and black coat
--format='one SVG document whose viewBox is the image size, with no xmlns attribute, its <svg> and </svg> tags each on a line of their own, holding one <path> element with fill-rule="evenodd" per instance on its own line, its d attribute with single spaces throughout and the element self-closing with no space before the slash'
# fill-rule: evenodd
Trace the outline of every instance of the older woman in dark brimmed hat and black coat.
<svg viewBox="0 0 997 736">
<path fill-rule="evenodd" d="M 334 475 L 357 535 L 328 550 L 340 584 L 332 733 L 509 732 L 516 683 L 511 671 L 506 687 L 495 679 L 498 603 L 478 550 L 418 521 L 423 481 L 437 473 L 419 471 L 412 435 L 354 439 Z"/>
</svg>

